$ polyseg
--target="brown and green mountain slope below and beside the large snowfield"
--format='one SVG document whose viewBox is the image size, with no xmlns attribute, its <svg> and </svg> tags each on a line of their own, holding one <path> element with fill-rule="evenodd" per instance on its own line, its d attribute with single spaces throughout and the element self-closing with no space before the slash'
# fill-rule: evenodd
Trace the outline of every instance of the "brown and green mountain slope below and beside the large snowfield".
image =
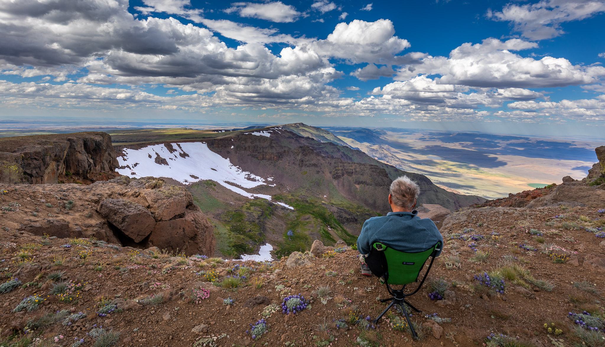
<svg viewBox="0 0 605 347">
<path fill-rule="evenodd" d="M 296 133 L 289 129 L 295 129 Z M 272 134 L 255 136 L 249 134 L 251 131 Z M 330 140 L 338 138 L 328 131 L 304 124 L 223 132 L 125 131 L 114 141 L 126 144 L 116 146 L 117 149 L 140 148 L 159 143 L 155 139 L 164 133 L 169 139 L 161 142 L 203 139 L 210 150 L 229 158 L 242 170 L 272 177 L 266 183 L 275 183 L 273 187 L 266 184 L 247 191 L 268 194 L 273 196 L 273 202 L 294 208 L 290 210 L 266 199 L 249 199 L 210 180 L 189 185 L 195 203 L 215 225 L 217 250 L 223 256 L 253 254 L 264 243 L 270 243 L 278 257 L 309 250 L 315 239 L 326 244 L 338 239 L 355 243 L 366 219 L 390 211 L 388 188 L 394 178 L 404 174 L 419 183 L 422 191 L 419 203 L 438 203 L 456 210 L 485 200 L 445 191 L 423 175 L 399 170 L 362 151 L 334 144 Z"/>
</svg>

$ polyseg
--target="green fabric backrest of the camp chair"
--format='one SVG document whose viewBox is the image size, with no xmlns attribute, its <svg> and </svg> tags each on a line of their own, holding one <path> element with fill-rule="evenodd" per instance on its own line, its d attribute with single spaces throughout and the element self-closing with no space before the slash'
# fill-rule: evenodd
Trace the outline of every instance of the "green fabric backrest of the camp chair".
<svg viewBox="0 0 605 347">
<path fill-rule="evenodd" d="M 381 277 L 381 282 L 390 285 L 407 285 L 417 282 L 420 271 L 431 256 L 436 256 L 441 242 L 419 253 L 397 251 L 382 242 L 372 245 L 370 256 L 366 258 L 370 270 Z M 431 261 L 431 265 L 432 265 Z M 428 271 L 428 270 L 427 270 Z M 426 276 L 425 276 L 426 277 Z"/>
</svg>

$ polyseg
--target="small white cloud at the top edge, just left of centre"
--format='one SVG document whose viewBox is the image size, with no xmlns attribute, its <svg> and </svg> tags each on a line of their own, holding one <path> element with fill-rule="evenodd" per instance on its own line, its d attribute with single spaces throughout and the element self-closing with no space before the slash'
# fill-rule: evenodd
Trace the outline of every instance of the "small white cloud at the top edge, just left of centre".
<svg viewBox="0 0 605 347">
<path fill-rule="evenodd" d="M 237 12 L 241 17 L 264 19 L 276 23 L 295 22 L 302 15 L 294 6 L 286 5 L 281 1 L 265 3 L 234 2 L 225 12 Z"/>
</svg>

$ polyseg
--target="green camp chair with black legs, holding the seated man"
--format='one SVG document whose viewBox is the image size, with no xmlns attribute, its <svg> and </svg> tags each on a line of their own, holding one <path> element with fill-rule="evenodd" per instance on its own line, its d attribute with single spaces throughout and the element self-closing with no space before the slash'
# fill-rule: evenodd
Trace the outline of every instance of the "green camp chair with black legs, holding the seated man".
<svg viewBox="0 0 605 347">
<path fill-rule="evenodd" d="M 405 298 L 416 294 L 420 287 L 422 287 L 422 283 L 424 283 L 424 280 L 427 279 L 428 272 L 431 271 L 433 260 L 435 260 L 435 257 L 440 250 L 441 242 L 437 242 L 433 247 L 419 253 L 405 253 L 397 251 L 382 242 L 376 242 L 372 245 L 370 254 L 365 257 L 365 262 L 372 273 L 376 277 L 379 277 L 381 283 L 387 285 L 389 294 L 393 296 L 388 299 L 381 300 L 381 302 L 390 301 L 391 303 L 387 308 L 385 308 L 384 311 L 382 311 L 378 318 L 374 319 L 374 324 L 376 324 L 376 322 L 378 322 L 378 320 L 381 319 L 382 316 L 384 316 L 384 314 L 387 313 L 391 307 L 393 307 L 393 305 L 399 305 L 402 311 L 404 311 L 405 319 L 408 321 L 408 326 L 410 326 L 412 335 L 414 335 L 414 338 L 418 337 L 410 322 L 408 312 L 405 311 L 403 305 L 405 303 L 414 311 L 422 312 L 407 302 Z M 418 282 L 420 270 L 422 270 L 424 267 L 428 257 L 431 257 L 431 262 L 429 263 L 427 272 L 424 274 L 424 277 L 422 277 L 422 281 L 420 281 L 418 288 L 409 294 L 405 293 L 405 286 L 412 282 Z M 401 289 L 393 289 L 391 288 L 391 285 L 403 285 L 403 287 Z"/>
</svg>

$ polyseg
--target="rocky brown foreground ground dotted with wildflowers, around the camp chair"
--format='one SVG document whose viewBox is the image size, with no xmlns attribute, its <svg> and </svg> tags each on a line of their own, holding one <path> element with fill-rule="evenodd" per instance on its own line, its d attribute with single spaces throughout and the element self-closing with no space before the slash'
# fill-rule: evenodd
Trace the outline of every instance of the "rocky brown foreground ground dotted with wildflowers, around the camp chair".
<svg viewBox="0 0 605 347">
<path fill-rule="evenodd" d="M 342 244 L 324 250 L 316 243 L 317 256 L 242 263 L 0 230 L 8 283 L 0 286 L 0 346 L 27 346 L 28 339 L 42 346 L 76 346 L 82 339 L 82 346 L 115 340 L 145 347 L 499 346 L 497 339 L 525 343 L 515 346 L 603 346 L 578 337 L 576 329 L 589 330 L 574 323 L 579 317 L 603 329 L 603 208 L 485 207 L 448 216 L 442 256 L 410 298 L 423 311 L 413 314 L 420 341 L 396 325 L 402 317 L 396 311 L 368 325 L 365 318 L 384 309 L 377 299 L 387 292 L 358 274 L 357 251 Z M 477 279 L 485 273 L 493 288 Z M 201 288 L 208 298 L 201 299 Z M 284 314 L 284 297 L 299 293 L 306 308 Z M 23 304 L 28 297 L 33 302 Z M 580 316 L 571 319 L 569 312 Z M 263 317 L 266 332 L 257 328 L 253 340 L 250 324 Z"/>
</svg>

